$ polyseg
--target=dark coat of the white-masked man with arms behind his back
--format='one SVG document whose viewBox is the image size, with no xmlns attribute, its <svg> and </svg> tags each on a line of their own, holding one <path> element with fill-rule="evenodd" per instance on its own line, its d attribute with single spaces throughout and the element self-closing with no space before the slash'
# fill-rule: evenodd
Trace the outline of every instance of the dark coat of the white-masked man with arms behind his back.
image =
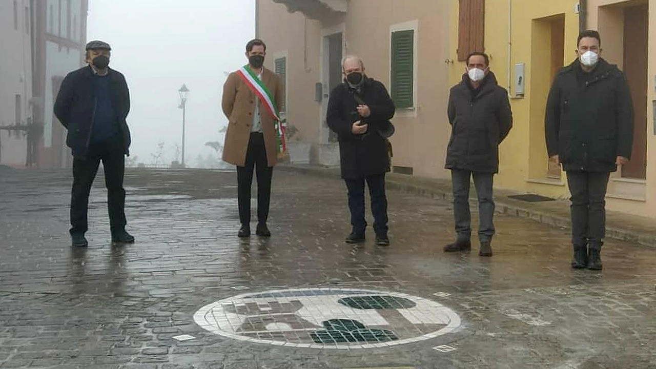
<svg viewBox="0 0 656 369">
<path fill-rule="evenodd" d="M 451 139 L 447 169 L 497 173 L 499 144 L 512 128 L 512 112 L 506 89 L 489 72 L 476 91 L 469 76 L 451 88 L 449 95 Z"/>
</svg>

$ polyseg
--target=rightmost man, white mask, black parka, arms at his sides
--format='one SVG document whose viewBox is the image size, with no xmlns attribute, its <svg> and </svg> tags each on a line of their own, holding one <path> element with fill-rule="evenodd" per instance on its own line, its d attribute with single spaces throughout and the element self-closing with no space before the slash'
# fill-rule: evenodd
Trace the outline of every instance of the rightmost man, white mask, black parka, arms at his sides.
<svg viewBox="0 0 656 369">
<path fill-rule="evenodd" d="M 567 173 L 575 269 L 602 269 L 606 188 L 610 173 L 628 162 L 633 144 L 626 78 L 599 57 L 600 45 L 596 31 L 579 35 L 579 57 L 556 75 L 544 119 L 549 158 Z"/>
</svg>

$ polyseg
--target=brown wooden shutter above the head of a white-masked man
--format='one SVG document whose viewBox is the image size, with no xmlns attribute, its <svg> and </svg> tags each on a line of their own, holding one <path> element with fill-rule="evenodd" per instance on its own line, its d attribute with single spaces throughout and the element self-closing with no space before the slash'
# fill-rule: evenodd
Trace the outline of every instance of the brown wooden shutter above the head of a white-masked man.
<svg viewBox="0 0 656 369">
<path fill-rule="evenodd" d="M 470 53 L 485 51 L 485 0 L 460 0 L 458 22 L 458 60 Z"/>
</svg>

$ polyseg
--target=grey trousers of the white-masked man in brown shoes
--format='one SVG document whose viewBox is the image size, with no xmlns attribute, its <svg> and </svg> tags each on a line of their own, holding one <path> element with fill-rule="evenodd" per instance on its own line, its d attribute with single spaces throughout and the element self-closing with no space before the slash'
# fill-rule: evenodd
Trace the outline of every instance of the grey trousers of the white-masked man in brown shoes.
<svg viewBox="0 0 656 369">
<path fill-rule="evenodd" d="M 489 242 L 495 234 L 493 223 L 495 204 L 492 197 L 493 173 L 451 169 L 455 231 L 460 241 L 468 241 L 472 237 L 472 214 L 469 209 L 469 188 L 472 175 L 478 195 L 480 218 L 478 238 L 481 242 Z"/>
</svg>

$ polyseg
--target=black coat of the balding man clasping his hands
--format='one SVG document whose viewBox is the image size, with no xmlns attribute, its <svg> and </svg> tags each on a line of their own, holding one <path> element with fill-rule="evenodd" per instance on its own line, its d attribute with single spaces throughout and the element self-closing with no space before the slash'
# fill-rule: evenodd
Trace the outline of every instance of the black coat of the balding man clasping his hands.
<svg viewBox="0 0 656 369">
<path fill-rule="evenodd" d="M 338 135 L 342 178 L 348 179 L 390 171 L 387 142 L 377 132 L 377 127 L 385 127 L 392 119 L 394 102 L 382 83 L 368 77 L 358 95 L 369 106 L 371 116 L 360 118 L 356 110 L 358 103 L 347 83 L 331 92 L 326 116 L 328 127 Z M 358 120 L 369 125 L 367 133 L 354 135 L 351 132 L 353 123 Z"/>
</svg>

